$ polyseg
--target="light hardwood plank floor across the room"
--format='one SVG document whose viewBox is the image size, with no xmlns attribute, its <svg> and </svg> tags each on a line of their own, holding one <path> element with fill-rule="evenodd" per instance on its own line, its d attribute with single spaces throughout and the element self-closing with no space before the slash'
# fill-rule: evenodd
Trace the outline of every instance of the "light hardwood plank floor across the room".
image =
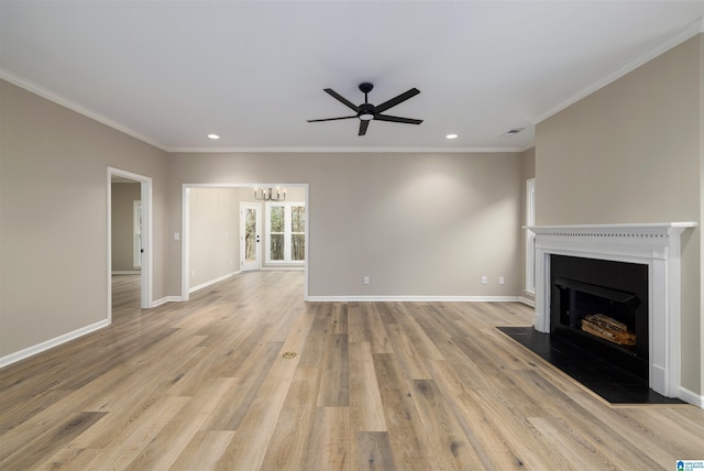
<svg viewBox="0 0 704 471">
<path fill-rule="evenodd" d="M 302 283 L 248 273 L 151 310 L 116 284 L 111 327 L 0 370 L 0 469 L 674 470 L 704 459 L 704 410 L 609 406 L 495 329 L 529 325 L 524 305 L 304 303 Z"/>
</svg>

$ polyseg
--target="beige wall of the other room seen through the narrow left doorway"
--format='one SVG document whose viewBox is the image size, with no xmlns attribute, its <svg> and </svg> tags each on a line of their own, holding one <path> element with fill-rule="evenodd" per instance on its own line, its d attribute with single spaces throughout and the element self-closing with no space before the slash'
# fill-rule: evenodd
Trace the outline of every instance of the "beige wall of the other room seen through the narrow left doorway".
<svg viewBox="0 0 704 471">
<path fill-rule="evenodd" d="M 142 198 L 141 184 L 113 183 L 110 195 L 112 224 L 112 271 L 139 271 L 134 267 L 134 201 Z"/>
</svg>

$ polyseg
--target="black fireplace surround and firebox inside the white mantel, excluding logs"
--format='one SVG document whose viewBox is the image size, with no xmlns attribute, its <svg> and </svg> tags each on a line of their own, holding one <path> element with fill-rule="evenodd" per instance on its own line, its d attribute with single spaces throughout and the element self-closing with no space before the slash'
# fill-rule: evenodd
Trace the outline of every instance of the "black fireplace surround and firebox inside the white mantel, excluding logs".
<svg viewBox="0 0 704 471">
<path fill-rule="evenodd" d="M 552 254 L 550 286 L 551 336 L 648 381 L 648 265 Z M 595 314 L 626 325 L 626 343 L 635 344 L 584 331 L 584 317 Z"/>
</svg>

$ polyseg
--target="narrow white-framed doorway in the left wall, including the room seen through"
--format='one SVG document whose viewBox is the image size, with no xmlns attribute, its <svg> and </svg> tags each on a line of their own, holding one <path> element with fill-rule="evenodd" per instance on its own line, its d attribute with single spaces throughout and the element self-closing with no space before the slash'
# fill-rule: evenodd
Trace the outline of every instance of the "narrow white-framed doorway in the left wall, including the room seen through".
<svg viewBox="0 0 704 471">
<path fill-rule="evenodd" d="M 125 185 L 125 188 L 113 187 L 113 185 Z M 139 186 L 135 190 L 130 186 Z M 119 189 L 118 189 L 119 188 Z M 122 201 L 119 207 L 113 202 Z M 136 202 L 135 202 L 136 201 Z M 120 209 L 124 207 L 124 210 Z M 118 213 L 119 212 L 119 213 Z M 118 218 L 116 220 L 116 218 Z M 136 226 L 135 226 L 136 223 Z M 125 228 L 122 228 L 125 226 Z M 119 229 L 123 229 L 120 231 Z M 122 233 L 124 232 L 124 237 Z M 134 244 L 139 241 L 139 247 Z M 128 247 L 125 249 L 125 245 Z M 134 280 L 139 276 L 139 282 L 120 283 L 120 286 L 132 286 L 131 289 L 139 289 L 128 294 L 122 288 L 118 292 L 121 299 L 136 296 L 139 307 L 147 309 L 152 307 L 152 179 L 143 175 L 108 167 L 108 306 L 107 318 L 112 321 L 112 305 L 116 293 L 113 292 L 113 276 L 131 276 Z M 139 251 L 139 254 L 136 253 Z M 121 252 L 127 253 L 128 266 L 118 265 L 114 256 Z M 120 269 L 120 270 L 114 270 Z"/>
</svg>

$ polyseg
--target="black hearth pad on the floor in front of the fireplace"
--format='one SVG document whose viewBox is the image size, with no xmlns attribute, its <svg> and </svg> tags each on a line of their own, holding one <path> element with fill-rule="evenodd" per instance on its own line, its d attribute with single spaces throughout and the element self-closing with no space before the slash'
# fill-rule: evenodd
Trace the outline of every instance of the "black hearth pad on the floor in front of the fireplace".
<svg viewBox="0 0 704 471">
<path fill-rule="evenodd" d="M 644 380 L 532 326 L 497 329 L 612 404 L 685 404 L 656 393 Z"/>
</svg>

